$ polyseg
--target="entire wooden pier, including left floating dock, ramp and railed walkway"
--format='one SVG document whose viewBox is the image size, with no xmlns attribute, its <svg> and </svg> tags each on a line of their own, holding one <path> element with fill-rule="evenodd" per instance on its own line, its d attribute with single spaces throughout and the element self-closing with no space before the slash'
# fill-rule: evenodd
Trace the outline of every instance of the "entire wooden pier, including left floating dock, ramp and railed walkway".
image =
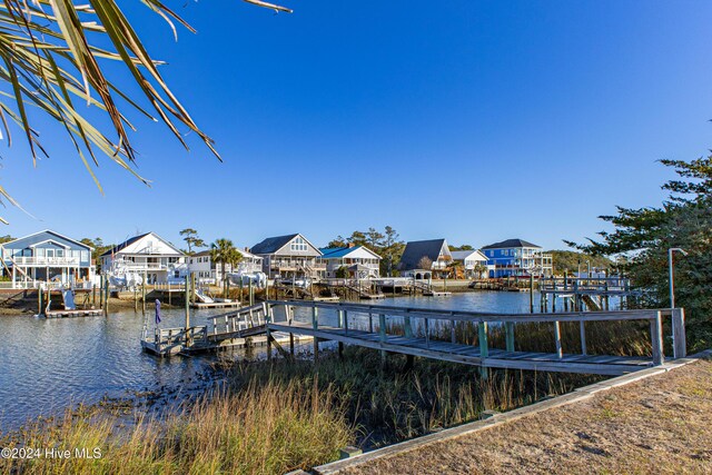
<svg viewBox="0 0 712 475">
<path fill-rule="evenodd" d="M 297 314 L 299 315 L 295 317 Z M 337 342 L 339 346 L 347 344 L 379 349 L 384 357 L 386 353 L 397 353 L 482 368 L 621 375 L 664 363 L 665 318 L 672 321 L 672 356 L 684 357 L 684 310 L 680 308 L 490 314 L 350 303 L 268 300 L 214 316 L 210 318 L 211 325 L 191 327 L 188 330 L 160 329 L 152 335 L 145 331 L 141 345 L 147 352 L 166 356 L 185 350 L 240 345 L 246 338 L 264 335 L 268 357 L 271 357 L 273 344 L 280 354 L 287 356 L 280 343 L 289 342 L 289 353 L 294 354 L 294 340 L 301 336 L 313 338 L 315 358 L 318 357 L 319 342 L 330 340 Z M 586 350 L 586 323 L 613 324 L 625 320 L 643 321 L 650 327 L 650 356 L 601 355 Z M 554 352 L 534 353 L 521 348 L 515 342 L 515 326 L 530 323 L 553 326 Z M 563 323 L 576 323 L 581 328 L 575 353 L 562 345 Z M 495 330 L 505 334 L 502 347 L 490 344 Z"/>
</svg>

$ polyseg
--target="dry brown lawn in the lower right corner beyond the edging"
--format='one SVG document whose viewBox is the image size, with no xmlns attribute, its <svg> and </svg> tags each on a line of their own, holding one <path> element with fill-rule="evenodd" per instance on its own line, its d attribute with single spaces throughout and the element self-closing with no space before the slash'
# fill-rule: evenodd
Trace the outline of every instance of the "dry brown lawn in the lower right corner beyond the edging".
<svg viewBox="0 0 712 475">
<path fill-rule="evenodd" d="M 712 474 L 712 363 L 348 474 Z"/>
</svg>

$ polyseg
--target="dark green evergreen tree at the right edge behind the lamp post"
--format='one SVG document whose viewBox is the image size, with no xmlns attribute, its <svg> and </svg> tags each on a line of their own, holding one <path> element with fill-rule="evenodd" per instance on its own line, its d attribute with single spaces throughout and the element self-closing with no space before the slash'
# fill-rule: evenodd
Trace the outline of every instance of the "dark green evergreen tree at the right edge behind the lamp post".
<svg viewBox="0 0 712 475">
<path fill-rule="evenodd" d="M 661 160 L 678 178 L 665 182 L 668 198 L 656 207 L 617 207 L 600 218 L 613 225 L 587 243 L 566 241 L 589 254 L 619 258 L 642 291 L 641 306 L 670 307 L 669 249 L 676 256 L 675 304 L 685 308 L 692 350 L 712 345 L 712 156 L 692 161 Z"/>
</svg>

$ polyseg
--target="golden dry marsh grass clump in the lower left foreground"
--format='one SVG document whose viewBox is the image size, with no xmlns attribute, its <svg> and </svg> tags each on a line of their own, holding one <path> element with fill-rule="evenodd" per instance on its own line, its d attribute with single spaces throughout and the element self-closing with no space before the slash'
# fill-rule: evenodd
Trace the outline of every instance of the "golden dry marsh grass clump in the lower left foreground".
<svg viewBox="0 0 712 475">
<path fill-rule="evenodd" d="M 166 420 L 120 429 L 106 414 L 68 412 L 0 438 L 2 447 L 59 451 L 98 447 L 100 458 L 0 459 L 0 473 L 217 474 L 285 473 L 336 458 L 352 427 L 329 389 L 250 384 L 205 398 Z"/>
</svg>

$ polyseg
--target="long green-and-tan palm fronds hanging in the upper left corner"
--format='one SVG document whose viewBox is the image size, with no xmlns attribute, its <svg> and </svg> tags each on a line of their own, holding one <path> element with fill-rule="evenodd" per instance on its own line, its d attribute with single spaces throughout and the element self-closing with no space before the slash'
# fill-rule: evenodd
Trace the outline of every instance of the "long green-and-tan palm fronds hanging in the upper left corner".
<svg viewBox="0 0 712 475">
<path fill-rule="evenodd" d="M 260 0 L 243 0 L 275 11 L 291 12 L 278 4 Z M 160 0 L 141 0 L 152 12 L 166 20 L 174 36 L 174 22 L 188 31 L 192 28 Z M 109 43 L 110 48 L 106 48 Z M 102 44 L 103 47 L 99 47 Z M 105 61 L 120 61 L 140 89 L 139 97 L 123 92 L 116 80 L 108 77 Z M 138 111 L 152 121 L 162 121 L 188 149 L 181 129 L 197 135 L 218 158 L 214 142 L 194 121 L 188 110 L 171 92 L 161 77 L 160 61 L 148 53 L 116 0 L 1 0 L 0 2 L 0 81 L 8 88 L 0 90 L 0 139 L 12 144 L 14 122 L 28 142 L 32 162 L 48 156 L 32 127 L 37 113 L 47 115 L 63 126 L 77 155 L 101 192 L 93 171 L 99 166 L 95 151 L 100 151 L 142 182 L 132 166 L 137 152 L 129 132 L 136 127 L 125 109 Z M 4 98 L 4 99 L 3 99 Z M 117 99 L 119 102 L 117 102 Z M 110 120 L 100 128 L 80 112 L 75 103 L 96 108 Z M 141 106 L 148 102 L 149 108 Z M 19 206 L 0 187 L 0 202 Z M 0 217 L 0 222 L 6 222 Z"/>
</svg>

